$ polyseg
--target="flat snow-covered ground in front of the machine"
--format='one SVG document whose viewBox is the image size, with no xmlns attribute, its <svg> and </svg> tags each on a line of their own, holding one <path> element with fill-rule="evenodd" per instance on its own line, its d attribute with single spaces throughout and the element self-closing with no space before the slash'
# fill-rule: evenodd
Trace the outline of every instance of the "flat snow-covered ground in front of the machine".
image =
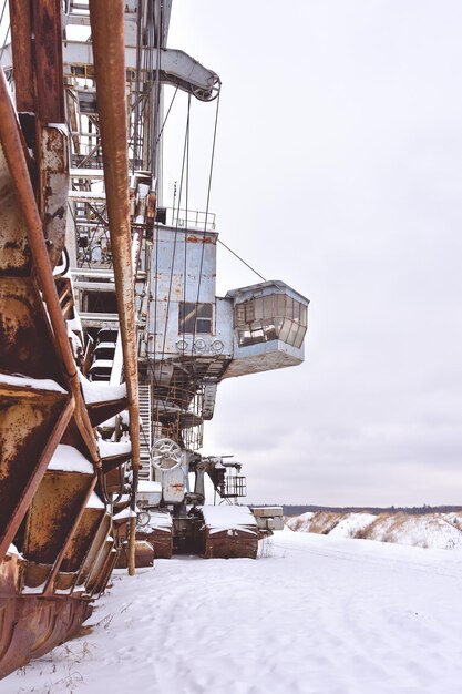
<svg viewBox="0 0 462 694">
<path fill-rule="evenodd" d="M 91 633 L 0 694 L 459 694 L 462 553 L 276 533 L 260 559 L 116 572 Z"/>
</svg>

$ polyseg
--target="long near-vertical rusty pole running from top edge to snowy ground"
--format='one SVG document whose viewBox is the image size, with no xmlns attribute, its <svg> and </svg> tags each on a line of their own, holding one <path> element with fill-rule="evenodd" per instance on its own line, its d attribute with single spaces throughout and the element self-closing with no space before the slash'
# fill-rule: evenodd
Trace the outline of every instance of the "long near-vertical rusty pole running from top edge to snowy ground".
<svg viewBox="0 0 462 694">
<path fill-rule="evenodd" d="M 136 491 L 140 469 L 140 406 L 129 201 L 124 2 L 90 0 L 89 4 L 107 218 L 129 397 L 133 484 Z M 131 520 L 129 573 L 132 575 L 135 569 L 135 533 L 134 519 Z"/>
</svg>

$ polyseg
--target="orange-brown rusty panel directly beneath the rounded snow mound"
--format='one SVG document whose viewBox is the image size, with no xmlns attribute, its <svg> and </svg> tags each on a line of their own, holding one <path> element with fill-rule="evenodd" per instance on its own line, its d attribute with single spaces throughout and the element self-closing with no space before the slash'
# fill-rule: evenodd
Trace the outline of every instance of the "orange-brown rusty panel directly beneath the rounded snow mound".
<svg viewBox="0 0 462 694">
<path fill-rule="evenodd" d="M 81 472 L 48 471 L 30 506 L 24 534 L 25 559 L 53 564 L 93 483 Z M 27 575 L 27 584 L 29 571 Z"/>
</svg>

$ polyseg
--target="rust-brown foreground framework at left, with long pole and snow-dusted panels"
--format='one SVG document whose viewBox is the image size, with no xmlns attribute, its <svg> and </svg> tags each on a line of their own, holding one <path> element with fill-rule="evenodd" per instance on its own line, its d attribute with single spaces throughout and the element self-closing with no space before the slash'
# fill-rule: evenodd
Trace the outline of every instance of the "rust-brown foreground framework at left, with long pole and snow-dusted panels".
<svg viewBox="0 0 462 694">
<path fill-rule="evenodd" d="M 99 126 L 123 378 L 92 390 L 69 254 L 70 132 L 63 8 L 10 2 L 0 75 L 0 675 L 89 615 L 135 516 L 140 426 L 125 124 L 124 7 L 91 2 Z M 64 8 L 70 10 L 70 8 Z M 111 31 L 107 32 L 107 18 Z M 110 95 L 104 91 L 110 90 Z M 126 411 L 130 443 L 96 427 Z M 109 476 L 131 460 L 127 512 Z M 134 524 L 129 563 L 134 570 Z"/>
</svg>

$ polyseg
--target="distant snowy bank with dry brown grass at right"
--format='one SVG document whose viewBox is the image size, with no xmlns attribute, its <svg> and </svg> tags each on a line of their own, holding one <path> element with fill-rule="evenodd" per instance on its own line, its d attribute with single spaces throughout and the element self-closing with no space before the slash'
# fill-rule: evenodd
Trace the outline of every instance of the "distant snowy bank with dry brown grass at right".
<svg viewBox="0 0 462 694">
<path fill-rule="evenodd" d="M 462 513 L 335 513 L 308 512 L 287 521 L 290 530 L 337 538 L 378 540 L 396 544 L 462 549 Z"/>
</svg>

